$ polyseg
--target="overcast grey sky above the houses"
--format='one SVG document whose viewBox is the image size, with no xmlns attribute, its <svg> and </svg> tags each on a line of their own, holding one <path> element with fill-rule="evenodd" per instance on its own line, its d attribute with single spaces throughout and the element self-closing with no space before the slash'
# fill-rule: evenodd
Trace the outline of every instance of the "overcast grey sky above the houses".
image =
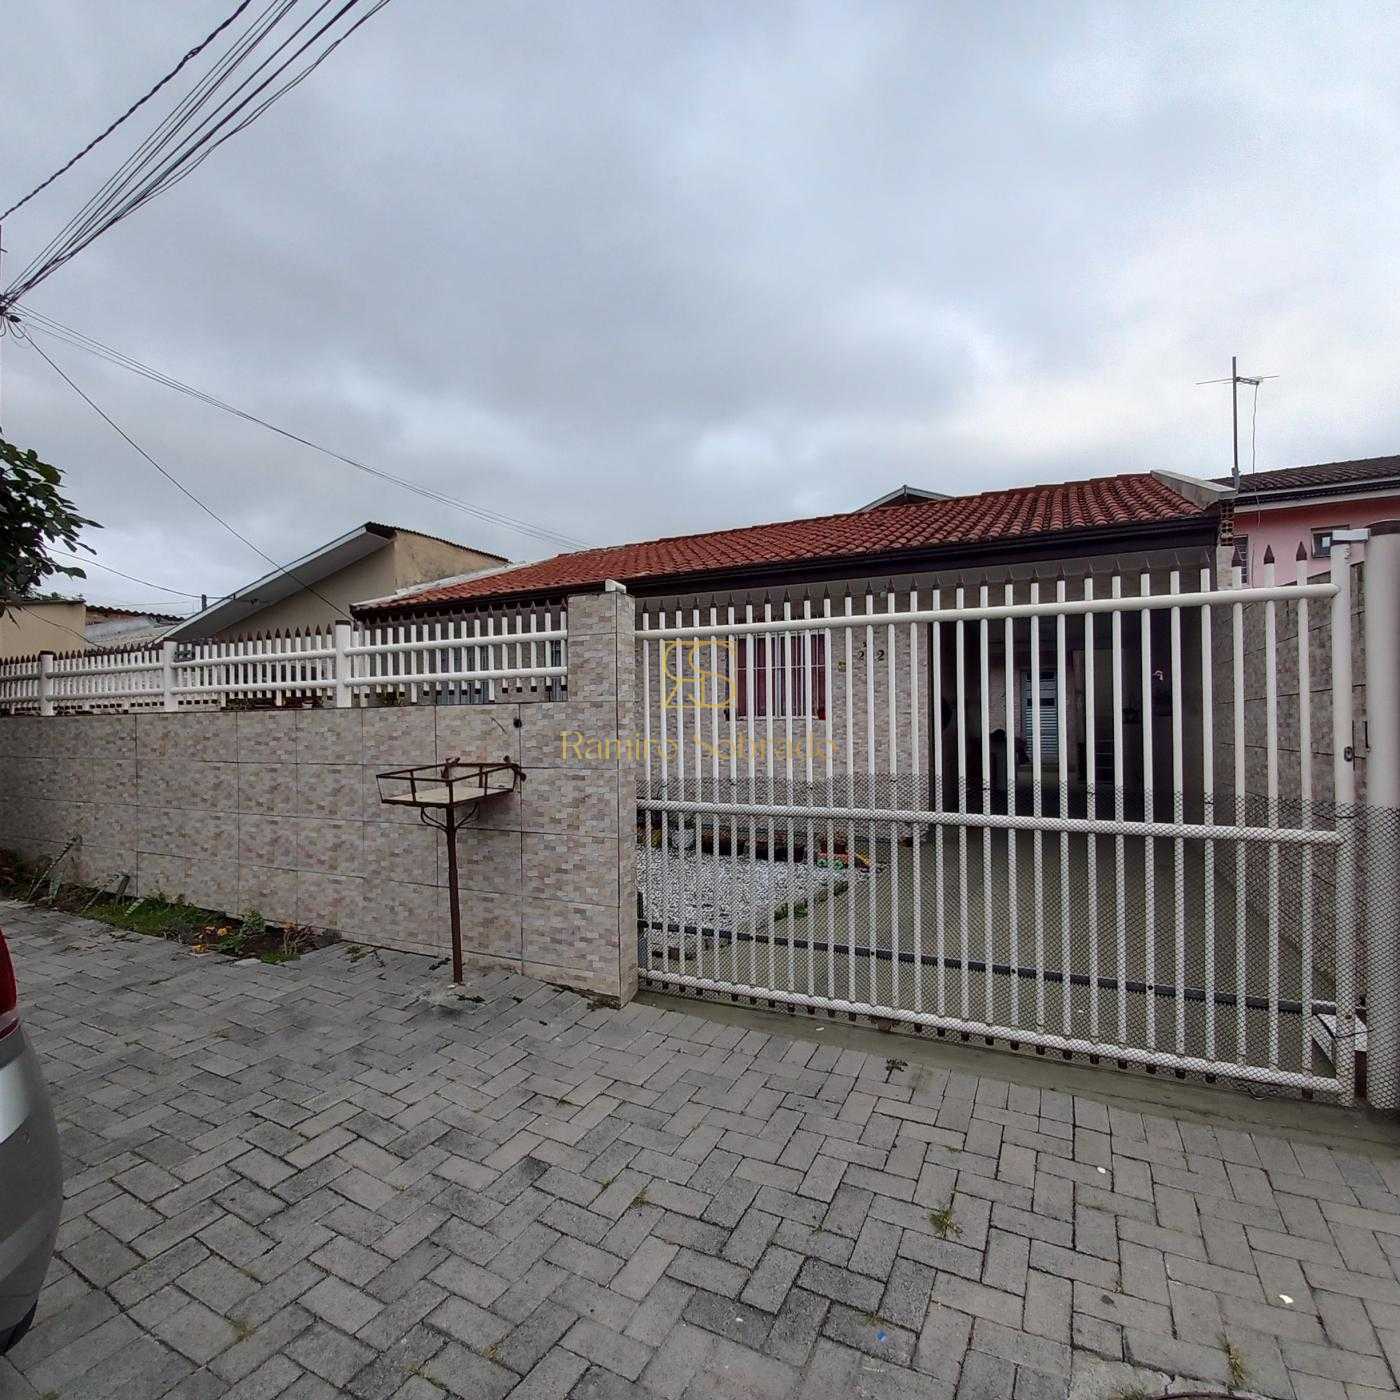
<svg viewBox="0 0 1400 1400">
<path fill-rule="evenodd" d="M 231 7 L 7 4 L 0 207 Z M 1396 452 L 1397 52 L 1364 3 L 393 0 L 32 305 L 589 543 L 1218 475 L 1229 391 L 1196 381 L 1232 353 L 1280 375 L 1261 469 Z M 6 224 L 11 272 L 127 148 Z M 46 349 L 279 560 L 365 519 L 554 552 Z M 3 370 L 98 559 L 211 595 L 266 570 L 32 350 Z"/>
</svg>

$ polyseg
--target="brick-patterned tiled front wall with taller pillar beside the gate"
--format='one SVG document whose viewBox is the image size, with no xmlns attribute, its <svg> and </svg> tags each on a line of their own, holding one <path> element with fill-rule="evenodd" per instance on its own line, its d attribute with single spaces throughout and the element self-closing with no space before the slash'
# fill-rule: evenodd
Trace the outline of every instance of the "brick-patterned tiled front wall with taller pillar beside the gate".
<svg viewBox="0 0 1400 1400">
<path fill-rule="evenodd" d="M 469 960 L 626 1001 L 636 990 L 630 601 L 570 601 L 570 699 L 405 707 L 0 718 L 0 847 L 66 878 L 386 948 L 451 948 L 444 837 L 384 806 L 375 774 L 449 756 L 525 767 L 463 829 Z M 619 665 L 626 659 L 626 666 Z M 599 741 L 580 759 L 561 735 Z"/>
</svg>

